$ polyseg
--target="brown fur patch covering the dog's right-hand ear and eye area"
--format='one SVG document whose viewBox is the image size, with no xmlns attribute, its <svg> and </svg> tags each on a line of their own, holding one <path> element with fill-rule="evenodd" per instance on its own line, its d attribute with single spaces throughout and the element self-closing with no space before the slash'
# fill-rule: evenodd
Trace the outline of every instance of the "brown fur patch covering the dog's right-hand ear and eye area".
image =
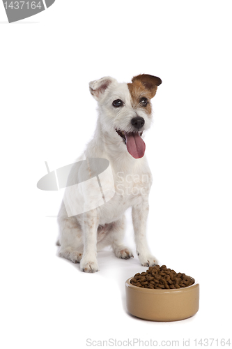
<svg viewBox="0 0 232 349">
<path fill-rule="evenodd" d="M 132 78 L 132 82 L 127 84 L 128 89 L 130 91 L 130 96 L 132 98 L 132 106 L 133 107 L 139 107 L 141 104 L 141 98 L 146 97 L 148 98 L 148 105 L 146 107 L 142 106 L 144 108 L 144 111 L 147 114 L 151 113 L 151 105 L 150 105 L 150 99 L 153 98 L 157 91 L 157 86 L 159 86 L 162 83 L 160 80 L 160 77 L 156 77 L 153 75 L 137 75 Z"/>
</svg>

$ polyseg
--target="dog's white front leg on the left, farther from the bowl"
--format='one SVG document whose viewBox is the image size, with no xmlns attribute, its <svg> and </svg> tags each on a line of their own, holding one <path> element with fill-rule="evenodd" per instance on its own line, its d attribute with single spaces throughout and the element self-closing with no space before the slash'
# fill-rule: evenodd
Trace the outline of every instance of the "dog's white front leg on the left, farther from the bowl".
<svg viewBox="0 0 232 349">
<path fill-rule="evenodd" d="M 83 214 L 82 230 L 84 238 L 84 252 L 80 262 L 82 272 L 98 272 L 97 260 L 97 231 L 98 231 L 97 212 L 95 209 Z"/>
</svg>

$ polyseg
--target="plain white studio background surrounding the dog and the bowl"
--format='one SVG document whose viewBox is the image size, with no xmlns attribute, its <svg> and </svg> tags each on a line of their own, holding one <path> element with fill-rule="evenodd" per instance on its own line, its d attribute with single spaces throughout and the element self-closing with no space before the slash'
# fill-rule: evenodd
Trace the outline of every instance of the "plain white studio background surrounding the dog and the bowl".
<svg viewBox="0 0 232 349">
<path fill-rule="evenodd" d="M 1 347 L 152 339 L 181 348 L 190 339 L 194 348 L 194 339 L 229 339 L 231 2 L 56 0 L 13 24 L 0 3 L 0 22 Z M 100 272 L 84 274 L 56 256 L 58 226 L 48 216 L 62 193 L 36 187 L 44 161 L 50 170 L 70 163 L 93 135 L 88 82 L 139 73 L 162 79 L 145 138 L 150 249 L 201 288 L 199 312 L 179 322 L 139 320 L 125 309 L 125 280 L 146 269 L 135 257 L 130 212 L 134 258 L 102 251 Z"/>
</svg>

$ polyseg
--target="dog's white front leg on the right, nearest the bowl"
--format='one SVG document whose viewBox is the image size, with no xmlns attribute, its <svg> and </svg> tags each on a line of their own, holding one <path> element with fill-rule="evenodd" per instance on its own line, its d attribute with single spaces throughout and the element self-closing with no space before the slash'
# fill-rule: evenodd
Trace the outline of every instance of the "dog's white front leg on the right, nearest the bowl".
<svg viewBox="0 0 232 349">
<path fill-rule="evenodd" d="M 132 207 L 132 221 L 134 226 L 134 239 L 137 248 L 137 255 L 141 265 L 146 267 L 157 264 L 155 257 L 150 253 L 146 240 L 146 221 L 148 218 L 148 200 L 141 198 L 137 205 Z"/>
</svg>

